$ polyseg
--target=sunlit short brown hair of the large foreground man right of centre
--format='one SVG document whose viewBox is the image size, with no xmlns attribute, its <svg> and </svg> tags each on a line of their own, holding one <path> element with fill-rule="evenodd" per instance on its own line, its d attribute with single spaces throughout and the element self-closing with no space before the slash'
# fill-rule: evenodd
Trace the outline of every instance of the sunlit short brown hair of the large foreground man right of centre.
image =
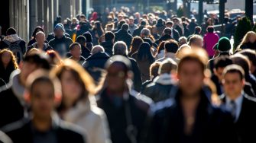
<svg viewBox="0 0 256 143">
<path fill-rule="evenodd" d="M 195 61 L 201 65 L 202 71 L 206 71 L 206 65 L 208 63 L 208 54 L 205 49 L 193 48 L 193 49 L 183 49 L 183 54 L 180 56 L 180 62 L 178 64 L 178 72 L 183 62 Z"/>
</svg>

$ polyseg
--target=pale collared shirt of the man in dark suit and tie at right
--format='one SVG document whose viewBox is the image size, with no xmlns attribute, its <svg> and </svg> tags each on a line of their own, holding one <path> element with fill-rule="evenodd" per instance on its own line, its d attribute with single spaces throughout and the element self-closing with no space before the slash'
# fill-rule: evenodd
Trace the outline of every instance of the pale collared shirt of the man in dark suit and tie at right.
<svg viewBox="0 0 256 143">
<path fill-rule="evenodd" d="M 237 122 L 237 120 L 240 116 L 240 113 L 241 113 L 241 105 L 243 102 L 243 95 L 244 95 L 244 91 L 242 91 L 241 95 L 235 99 L 235 120 L 234 120 L 235 122 Z M 225 106 L 229 111 L 232 111 L 232 100 L 228 96 L 226 96 Z"/>
</svg>

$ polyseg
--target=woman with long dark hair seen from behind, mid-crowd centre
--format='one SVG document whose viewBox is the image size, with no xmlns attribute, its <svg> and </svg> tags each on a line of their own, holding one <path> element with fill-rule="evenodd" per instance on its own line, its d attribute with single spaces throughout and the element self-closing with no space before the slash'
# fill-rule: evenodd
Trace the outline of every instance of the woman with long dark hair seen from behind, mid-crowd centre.
<svg viewBox="0 0 256 143">
<path fill-rule="evenodd" d="M 138 52 L 135 52 L 131 57 L 136 59 L 138 63 L 138 67 L 141 71 L 142 82 L 149 80 L 151 78 L 149 75 L 149 67 L 154 62 L 154 56 L 152 55 L 149 43 L 141 43 Z"/>
</svg>

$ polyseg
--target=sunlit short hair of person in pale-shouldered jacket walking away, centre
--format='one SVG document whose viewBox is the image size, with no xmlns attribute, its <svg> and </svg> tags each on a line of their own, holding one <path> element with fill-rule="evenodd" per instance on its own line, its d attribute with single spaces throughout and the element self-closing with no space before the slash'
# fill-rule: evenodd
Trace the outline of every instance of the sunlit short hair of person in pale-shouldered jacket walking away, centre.
<svg viewBox="0 0 256 143">
<path fill-rule="evenodd" d="M 177 63 L 173 59 L 165 59 L 159 67 L 158 74 L 170 74 L 170 71 L 177 70 Z"/>
</svg>

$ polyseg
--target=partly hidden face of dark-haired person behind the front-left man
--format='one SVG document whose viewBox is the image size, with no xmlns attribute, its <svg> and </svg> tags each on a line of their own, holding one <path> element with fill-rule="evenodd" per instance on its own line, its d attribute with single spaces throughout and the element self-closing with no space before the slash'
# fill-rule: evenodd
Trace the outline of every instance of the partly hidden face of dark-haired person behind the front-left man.
<svg viewBox="0 0 256 143">
<path fill-rule="evenodd" d="M 35 63 L 23 62 L 21 66 L 21 74 L 20 74 L 21 84 L 24 84 L 28 78 L 28 75 L 30 75 L 37 68 L 38 67 Z"/>
</svg>

